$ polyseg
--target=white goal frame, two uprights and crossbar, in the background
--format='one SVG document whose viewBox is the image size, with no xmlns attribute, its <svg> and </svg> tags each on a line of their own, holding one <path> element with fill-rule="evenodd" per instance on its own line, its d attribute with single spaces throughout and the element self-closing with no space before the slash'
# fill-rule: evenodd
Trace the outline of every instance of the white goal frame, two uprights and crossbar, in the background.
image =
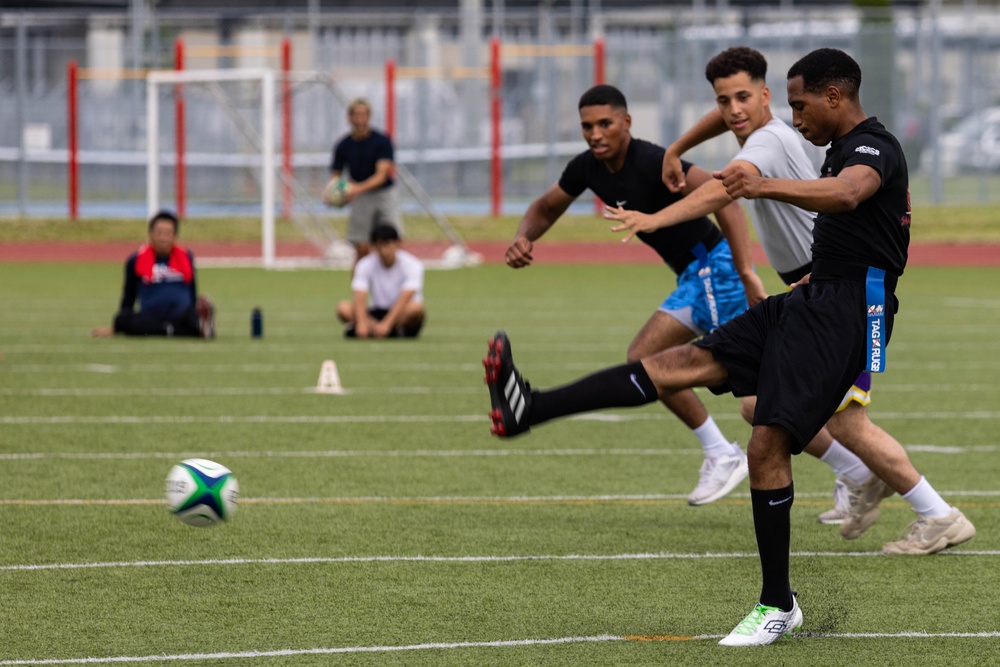
<svg viewBox="0 0 1000 667">
<path fill-rule="evenodd" d="M 260 84 L 261 255 L 266 268 L 275 266 L 274 72 L 265 68 L 154 71 L 146 77 L 146 207 L 160 209 L 159 89 L 164 85 L 252 81 Z"/>
</svg>

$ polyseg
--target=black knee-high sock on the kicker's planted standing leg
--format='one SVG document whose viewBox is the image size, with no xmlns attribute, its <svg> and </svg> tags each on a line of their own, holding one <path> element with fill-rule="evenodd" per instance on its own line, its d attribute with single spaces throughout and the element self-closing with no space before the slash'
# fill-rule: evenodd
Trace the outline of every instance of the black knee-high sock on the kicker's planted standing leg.
<svg viewBox="0 0 1000 667">
<path fill-rule="evenodd" d="M 788 578 L 791 549 L 791 508 L 795 497 L 794 485 L 784 489 L 759 491 L 750 489 L 753 505 L 753 527 L 757 534 L 762 586 L 760 603 L 792 610 L 792 590 Z"/>
</svg>

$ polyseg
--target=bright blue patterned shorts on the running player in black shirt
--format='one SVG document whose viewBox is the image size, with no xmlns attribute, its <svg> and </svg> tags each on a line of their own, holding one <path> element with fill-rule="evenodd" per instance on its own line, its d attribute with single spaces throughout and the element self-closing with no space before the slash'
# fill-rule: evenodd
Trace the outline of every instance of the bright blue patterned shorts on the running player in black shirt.
<svg viewBox="0 0 1000 667">
<path fill-rule="evenodd" d="M 703 336 L 745 311 L 747 296 L 725 239 L 708 252 L 700 243 L 691 252 L 695 261 L 677 276 L 677 289 L 660 310 Z"/>
</svg>

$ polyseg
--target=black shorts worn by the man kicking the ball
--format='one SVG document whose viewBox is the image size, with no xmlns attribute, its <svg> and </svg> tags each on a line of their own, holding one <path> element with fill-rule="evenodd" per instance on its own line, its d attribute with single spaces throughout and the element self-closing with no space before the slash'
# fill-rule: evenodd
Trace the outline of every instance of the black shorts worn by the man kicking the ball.
<svg viewBox="0 0 1000 667">
<path fill-rule="evenodd" d="M 888 333 L 894 309 L 886 310 Z M 728 371 L 712 392 L 756 395 L 754 425 L 785 427 L 798 454 L 864 370 L 865 333 L 864 283 L 820 281 L 772 296 L 694 344 Z"/>
</svg>

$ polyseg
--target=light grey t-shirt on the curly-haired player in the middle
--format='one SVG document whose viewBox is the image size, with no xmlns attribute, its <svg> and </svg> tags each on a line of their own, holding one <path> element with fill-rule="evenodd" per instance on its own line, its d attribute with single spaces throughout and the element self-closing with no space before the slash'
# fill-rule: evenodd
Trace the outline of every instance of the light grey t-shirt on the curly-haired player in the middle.
<svg viewBox="0 0 1000 667">
<path fill-rule="evenodd" d="M 765 178 L 808 181 L 818 176 L 798 132 L 777 118 L 747 137 L 733 159 L 749 162 Z M 775 271 L 791 272 L 812 261 L 815 213 L 774 199 L 745 201 L 757 238 Z"/>
</svg>

